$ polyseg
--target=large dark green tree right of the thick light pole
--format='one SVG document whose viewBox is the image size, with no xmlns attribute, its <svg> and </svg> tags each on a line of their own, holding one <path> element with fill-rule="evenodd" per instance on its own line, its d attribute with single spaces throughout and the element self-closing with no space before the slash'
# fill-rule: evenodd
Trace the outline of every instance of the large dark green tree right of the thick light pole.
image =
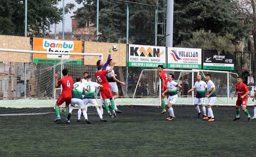
<svg viewBox="0 0 256 157">
<path fill-rule="evenodd" d="M 247 26 L 241 25 L 245 18 L 234 9 L 236 1 L 230 0 L 177 0 L 174 2 L 174 45 L 188 40 L 199 29 L 219 36 L 230 33 L 232 43 L 237 44 L 247 36 Z"/>
</svg>

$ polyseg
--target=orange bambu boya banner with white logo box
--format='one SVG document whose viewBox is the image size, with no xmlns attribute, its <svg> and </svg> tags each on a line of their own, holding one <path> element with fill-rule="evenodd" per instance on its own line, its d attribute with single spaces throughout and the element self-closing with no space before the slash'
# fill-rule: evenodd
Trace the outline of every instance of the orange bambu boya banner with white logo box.
<svg viewBox="0 0 256 157">
<path fill-rule="evenodd" d="M 82 53 L 82 41 L 33 38 L 33 50 L 48 52 Z M 70 60 L 69 62 L 67 62 L 68 64 L 82 64 L 82 56 L 80 55 L 53 55 L 37 53 L 33 53 L 33 62 L 44 64 L 57 64 L 60 62 L 61 57 L 64 61 Z"/>
</svg>

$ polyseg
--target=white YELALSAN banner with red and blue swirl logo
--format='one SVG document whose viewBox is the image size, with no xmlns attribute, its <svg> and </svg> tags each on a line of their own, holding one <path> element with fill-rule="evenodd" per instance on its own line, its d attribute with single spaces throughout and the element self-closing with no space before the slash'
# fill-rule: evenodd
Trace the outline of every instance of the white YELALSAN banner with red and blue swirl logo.
<svg viewBox="0 0 256 157">
<path fill-rule="evenodd" d="M 167 47 L 168 68 L 201 69 L 202 49 Z"/>
</svg>

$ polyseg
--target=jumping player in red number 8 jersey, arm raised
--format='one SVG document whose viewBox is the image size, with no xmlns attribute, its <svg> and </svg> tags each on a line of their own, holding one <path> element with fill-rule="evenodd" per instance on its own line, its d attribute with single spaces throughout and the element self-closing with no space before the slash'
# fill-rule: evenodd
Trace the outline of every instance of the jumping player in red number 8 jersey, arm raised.
<svg viewBox="0 0 256 157">
<path fill-rule="evenodd" d="M 102 96 L 102 99 L 104 100 L 104 106 L 105 106 L 106 110 L 108 111 L 108 115 L 111 118 L 116 117 L 116 114 L 115 114 L 115 104 L 114 104 L 113 95 L 112 95 L 112 91 L 111 91 L 110 85 L 108 84 L 108 80 L 106 78 L 106 74 L 110 73 L 113 70 L 114 65 L 115 64 L 110 66 L 109 70 L 103 70 L 103 71 L 102 71 L 102 66 L 98 65 L 97 66 L 98 71 L 95 73 L 95 77 L 97 78 L 99 84 L 101 84 L 103 86 L 100 89 L 101 96 Z M 112 110 L 113 110 L 112 113 L 109 111 L 107 99 L 110 99 Z"/>
</svg>

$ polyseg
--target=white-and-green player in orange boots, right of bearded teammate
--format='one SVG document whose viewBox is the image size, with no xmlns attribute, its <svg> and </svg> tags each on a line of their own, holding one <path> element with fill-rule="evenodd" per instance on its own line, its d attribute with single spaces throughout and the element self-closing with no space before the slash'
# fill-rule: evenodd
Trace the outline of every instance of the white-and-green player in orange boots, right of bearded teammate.
<svg viewBox="0 0 256 157">
<path fill-rule="evenodd" d="M 215 121 L 214 115 L 212 112 L 212 105 L 214 105 L 216 101 L 216 90 L 215 90 L 215 85 L 211 80 L 211 75 L 206 74 L 205 75 L 205 80 L 207 81 L 207 95 L 206 97 L 208 98 L 208 105 L 207 105 L 207 110 L 208 110 L 208 116 L 204 117 L 203 119 L 208 120 L 209 122 Z"/>
</svg>

